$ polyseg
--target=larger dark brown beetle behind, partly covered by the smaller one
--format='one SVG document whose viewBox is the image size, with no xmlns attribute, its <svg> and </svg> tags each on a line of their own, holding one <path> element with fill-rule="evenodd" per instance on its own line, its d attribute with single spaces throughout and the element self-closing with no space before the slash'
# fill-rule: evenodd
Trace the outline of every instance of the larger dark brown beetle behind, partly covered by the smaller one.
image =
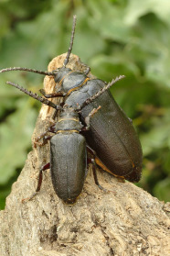
<svg viewBox="0 0 170 256">
<path fill-rule="evenodd" d="M 105 83 L 100 79 L 90 79 L 89 67 L 85 72 L 74 72 L 67 68 L 75 27 L 76 17 L 74 16 L 69 50 L 61 68 L 53 72 L 40 72 L 26 68 L 9 68 L 0 72 L 20 70 L 52 75 L 59 89 L 50 95 L 41 90 L 41 94 L 46 98 L 63 96 L 65 104 L 69 106 L 81 105 L 103 88 Z M 80 114 L 82 123 L 96 106 L 101 106 L 101 111 L 90 119 L 90 130 L 85 132 L 84 136 L 90 147 L 96 151 L 97 164 L 113 175 L 122 176 L 133 183 L 139 182 L 142 175 L 143 152 L 132 120 L 125 115 L 107 90 L 101 97 L 83 107 Z"/>
</svg>

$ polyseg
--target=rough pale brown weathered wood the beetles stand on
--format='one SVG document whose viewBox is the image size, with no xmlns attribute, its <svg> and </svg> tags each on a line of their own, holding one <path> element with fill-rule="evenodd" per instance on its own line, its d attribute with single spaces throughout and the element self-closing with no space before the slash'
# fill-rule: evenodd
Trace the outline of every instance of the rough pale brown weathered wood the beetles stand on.
<svg viewBox="0 0 170 256">
<path fill-rule="evenodd" d="M 61 66 L 63 56 L 51 61 L 48 70 Z M 75 55 L 68 66 L 86 69 Z M 46 77 L 46 91 L 54 86 Z M 48 127 L 51 111 L 42 106 L 33 140 Z M 90 171 L 77 203 L 67 206 L 54 193 L 47 171 L 38 195 L 23 204 L 35 192 L 39 167 L 48 160 L 48 145 L 28 154 L 0 213 L 0 256 L 170 255 L 170 204 L 134 184 L 119 183 L 109 173 L 99 171 L 98 176 L 112 192 L 102 192 Z"/>
</svg>

